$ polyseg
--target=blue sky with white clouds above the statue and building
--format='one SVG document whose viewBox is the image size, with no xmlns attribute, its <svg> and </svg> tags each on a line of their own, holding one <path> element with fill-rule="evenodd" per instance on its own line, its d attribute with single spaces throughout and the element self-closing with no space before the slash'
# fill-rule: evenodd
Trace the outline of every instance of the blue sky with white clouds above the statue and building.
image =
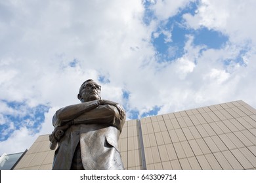
<svg viewBox="0 0 256 183">
<path fill-rule="evenodd" d="M 0 0 L 0 155 L 102 86 L 127 120 L 242 99 L 256 108 L 256 1 Z"/>
</svg>

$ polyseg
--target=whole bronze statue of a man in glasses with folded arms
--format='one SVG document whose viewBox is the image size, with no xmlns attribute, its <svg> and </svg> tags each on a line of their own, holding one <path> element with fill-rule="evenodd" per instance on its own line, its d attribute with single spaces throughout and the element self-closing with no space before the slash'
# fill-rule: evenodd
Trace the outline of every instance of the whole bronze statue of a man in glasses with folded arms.
<svg viewBox="0 0 256 183">
<path fill-rule="evenodd" d="M 101 87 L 83 82 L 77 98 L 81 103 L 60 108 L 53 116 L 50 135 L 53 169 L 124 169 L 117 141 L 125 123 L 125 111 L 102 100 Z"/>
</svg>

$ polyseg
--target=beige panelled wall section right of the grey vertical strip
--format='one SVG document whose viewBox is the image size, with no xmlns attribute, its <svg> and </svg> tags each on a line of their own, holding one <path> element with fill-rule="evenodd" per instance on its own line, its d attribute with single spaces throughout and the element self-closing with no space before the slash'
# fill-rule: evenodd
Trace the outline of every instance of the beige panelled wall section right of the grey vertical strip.
<svg viewBox="0 0 256 183">
<path fill-rule="evenodd" d="M 255 114 L 234 101 L 143 118 L 147 169 L 255 169 Z"/>
</svg>

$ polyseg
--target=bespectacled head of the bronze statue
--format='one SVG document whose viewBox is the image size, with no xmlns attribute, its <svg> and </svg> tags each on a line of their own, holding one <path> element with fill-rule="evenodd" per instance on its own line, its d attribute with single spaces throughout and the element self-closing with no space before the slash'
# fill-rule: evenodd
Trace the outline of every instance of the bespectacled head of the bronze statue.
<svg viewBox="0 0 256 183">
<path fill-rule="evenodd" d="M 100 97 L 101 87 L 96 84 L 92 79 L 86 80 L 81 84 L 77 98 L 83 103 L 87 101 L 93 101 L 101 99 Z"/>
</svg>

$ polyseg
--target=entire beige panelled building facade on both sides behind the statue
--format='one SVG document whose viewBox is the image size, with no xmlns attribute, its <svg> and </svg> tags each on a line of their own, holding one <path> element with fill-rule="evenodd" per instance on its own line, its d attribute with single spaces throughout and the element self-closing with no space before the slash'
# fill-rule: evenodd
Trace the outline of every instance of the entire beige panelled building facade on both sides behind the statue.
<svg viewBox="0 0 256 183">
<path fill-rule="evenodd" d="M 256 169 L 256 110 L 232 101 L 125 122 L 125 169 Z M 41 135 L 14 169 L 51 169 L 54 150 Z"/>
</svg>

